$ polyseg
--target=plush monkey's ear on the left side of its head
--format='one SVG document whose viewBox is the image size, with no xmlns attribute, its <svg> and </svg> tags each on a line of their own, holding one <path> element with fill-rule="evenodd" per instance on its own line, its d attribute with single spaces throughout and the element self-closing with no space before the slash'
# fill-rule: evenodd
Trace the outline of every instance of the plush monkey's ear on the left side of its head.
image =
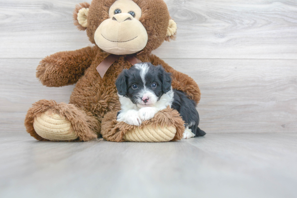
<svg viewBox="0 0 297 198">
<path fill-rule="evenodd" d="M 90 4 L 88 4 L 87 2 L 80 3 L 75 6 L 75 10 L 73 11 L 73 20 L 74 24 L 79 30 L 87 29 L 89 7 Z"/>
</svg>

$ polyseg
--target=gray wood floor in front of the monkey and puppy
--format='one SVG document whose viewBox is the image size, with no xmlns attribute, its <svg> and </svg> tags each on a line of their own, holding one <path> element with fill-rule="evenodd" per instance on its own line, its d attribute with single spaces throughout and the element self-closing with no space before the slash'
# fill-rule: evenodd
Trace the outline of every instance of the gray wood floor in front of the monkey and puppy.
<svg viewBox="0 0 297 198">
<path fill-rule="evenodd" d="M 40 142 L 0 133 L 0 197 L 296 197 L 297 134 Z"/>
</svg>

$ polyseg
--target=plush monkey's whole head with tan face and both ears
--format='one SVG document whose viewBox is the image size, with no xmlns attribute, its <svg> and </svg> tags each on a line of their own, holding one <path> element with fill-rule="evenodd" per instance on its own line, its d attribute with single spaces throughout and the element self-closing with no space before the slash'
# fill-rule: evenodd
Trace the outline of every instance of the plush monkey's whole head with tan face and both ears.
<svg viewBox="0 0 297 198">
<path fill-rule="evenodd" d="M 177 28 L 163 0 L 93 0 L 77 5 L 73 18 L 93 44 L 118 55 L 149 54 Z"/>
</svg>

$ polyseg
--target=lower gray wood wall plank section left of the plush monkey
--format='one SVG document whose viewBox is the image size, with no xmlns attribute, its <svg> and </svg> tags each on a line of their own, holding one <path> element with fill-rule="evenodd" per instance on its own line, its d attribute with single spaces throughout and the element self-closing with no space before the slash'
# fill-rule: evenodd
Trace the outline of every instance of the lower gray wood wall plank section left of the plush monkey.
<svg viewBox="0 0 297 198">
<path fill-rule="evenodd" d="M 1 130 L 25 132 L 24 119 L 32 103 L 40 99 L 69 102 L 74 86 L 42 86 L 35 76 L 40 59 L 0 59 Z M 2 132 L 1 131 L 1 132 Z"/>
</svg>

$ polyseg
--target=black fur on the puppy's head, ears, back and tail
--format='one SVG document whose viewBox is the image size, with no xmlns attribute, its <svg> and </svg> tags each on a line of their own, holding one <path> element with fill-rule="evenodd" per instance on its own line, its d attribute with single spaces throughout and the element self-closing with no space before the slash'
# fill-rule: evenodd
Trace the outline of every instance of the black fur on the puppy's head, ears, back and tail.
<svg viewBox="0 0 297 198">
<path fill-rule="evenodd" d="M 161 65 L 155 67 L 151 63 L 140 64 L 148 64 L 149 72 L 145 75 L 145 86 L 155 93 L 159 100 L 164 93 L 169 92 L 171 89 L 171 74 L 167 73 Z M 156 83 L 157 87 L 152 88 L 150 86 L 152 83 Z M 135 101 L 139 99 L 139 89 L 132 89 L 132 85 L 137 84 L 140 89 L 144 87 L 140 71 L 135 67 L 131 67 L 129 70 L 123 70 L 115 84 L 118 93 L 128 97 L 134 104 L 136 104 Z M 171 108 L 179 112 L 182 119 L 185 121 L 185 126 L 192 130 L 195 137 L 205 135 L 205 132 L 198 127 L 199 114 L 195 108 L 195 102 L 187 98 L 182 91 L 174 89 L 173 92 L 174 97 Z"/>
</svg>

